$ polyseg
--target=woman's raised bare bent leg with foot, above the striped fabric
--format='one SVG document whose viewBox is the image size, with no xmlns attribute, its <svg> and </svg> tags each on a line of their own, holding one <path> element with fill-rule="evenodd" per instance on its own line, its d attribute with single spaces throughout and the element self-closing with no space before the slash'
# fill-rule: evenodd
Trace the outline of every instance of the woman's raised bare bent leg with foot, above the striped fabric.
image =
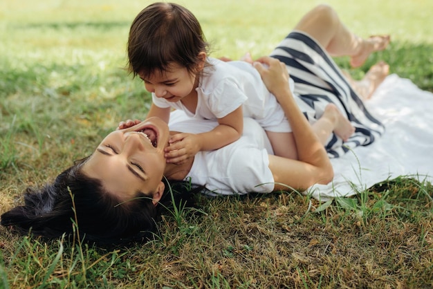
<svg viewBox="0 0 433 289">
<path fill-rule="evenodd" d="M 389 35 L 368 39 L 354 35 L 342 23 L 333 8 L 320 5 L 308 12 L 295 26 L 316 39 L 331 56 L 351 56 L 351 66 L 361 66 L 371 53 L 389 44 Z"/>
</svg>

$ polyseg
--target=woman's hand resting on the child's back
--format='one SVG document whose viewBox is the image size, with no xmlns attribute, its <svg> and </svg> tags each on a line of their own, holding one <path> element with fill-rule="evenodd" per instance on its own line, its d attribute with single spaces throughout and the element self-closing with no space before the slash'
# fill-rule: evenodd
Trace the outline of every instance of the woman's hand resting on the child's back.
<svg viewBox="0 0 433 289">
<path fill-rule="evenodd" d="M 289 76 L 286 65 L 283 62 L 273 57 L 264 56 L 253 62 L 252 65 L 260 73 L 261 79 L 266 88 L 268 88 L 268 91 L 273 93 L 277 99 L 277 95 L 291 94 L 288 85 Z M 264 65 L 268 67 L 266 68 Z"/>
</svg>

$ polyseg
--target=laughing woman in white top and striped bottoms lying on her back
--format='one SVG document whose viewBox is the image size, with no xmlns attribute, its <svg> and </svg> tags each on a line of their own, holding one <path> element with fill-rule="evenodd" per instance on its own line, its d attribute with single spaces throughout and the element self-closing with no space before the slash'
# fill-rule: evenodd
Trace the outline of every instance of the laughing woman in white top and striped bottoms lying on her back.
<svg viewBox="0 0 433 289">
<path fill-rule="evenodd" d="M 352 147 L 368 145 L 382 133 L 382 124 L 368 113 L 360 97 L 371 95 L 388 66 L 376 64 L 362 82 L 351 81 L 351 86 L 328 53 L 351 55 L 351 63 L 358 66 L 388 41 L 388 37 L 360 39 L 347 31 L 331 8 L 318 6 L 272 57 L 254 63 L 291 124 L 298 160 L 268 153 L 263 129 L 247 120 L 237 142 L 200 152 L 181 165 L 167 164 L 164 151 L 171 135 L 200 133 L 217 123 L 173 120 L 169 131 L 159 118 L 138 124 L 127 121 L 120 126 L 124 129 L 110 133 L 91 156 L 66 169 L 53 183 L 28 188 L 24 206 L 3 214 L 1 225 L 21 234 L 55 238 L 73 235 L 72 222 L 77 221 L 87 241 L 122 243 L 154 232 L 161 204 L 170 201 L 167 191 L 176 181 L 190 178 L 214 194 L 266 193 L 329 183 L 333 178 L 329 156 L 344 153 L 333 131 L 353 126 L 355 132 L 345 142 Z M 295 95 L 287 71 L 295 80 Z M 358 96 L 355 90 L 362 87 L 367 90 Z"/>
</svg>

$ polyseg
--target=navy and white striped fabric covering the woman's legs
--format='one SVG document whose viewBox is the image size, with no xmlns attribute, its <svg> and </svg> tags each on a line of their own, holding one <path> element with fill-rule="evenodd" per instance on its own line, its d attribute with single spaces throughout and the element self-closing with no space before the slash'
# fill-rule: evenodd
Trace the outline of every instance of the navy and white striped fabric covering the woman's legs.
<svg viewBox="0 0 433 289">
<path fill-rule="evenodd" d="M 333 59 L 308 35 L 291 32 L 270 56 L 286 64 L 295 81 L 297 104 L 311 124 L 320 118 L 326 104 L 333 102 L 356 128 L 344 144 L 335 134 L 331 135 L 325 146 L 330 158 L 342 156 L 349 148 L 369 145 L 385 131 L 383 124 L 367 111 Z"/>
</svg>

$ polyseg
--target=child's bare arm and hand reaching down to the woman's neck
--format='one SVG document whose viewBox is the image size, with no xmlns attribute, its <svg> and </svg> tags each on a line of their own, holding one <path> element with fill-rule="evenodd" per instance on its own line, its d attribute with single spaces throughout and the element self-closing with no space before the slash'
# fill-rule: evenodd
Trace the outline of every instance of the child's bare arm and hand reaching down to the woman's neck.
<svg viewBox="0 0 433 289">
<path fill-rule="evenodd" d="M 220 149 L 238 140 L 243 131 L 242 106 L 218 119 L 219 125 L 206 133 L 178 133 L 169 140 L 165 149 L 167 162 L 181 164 L 198 151 Z"/>
</svg>

